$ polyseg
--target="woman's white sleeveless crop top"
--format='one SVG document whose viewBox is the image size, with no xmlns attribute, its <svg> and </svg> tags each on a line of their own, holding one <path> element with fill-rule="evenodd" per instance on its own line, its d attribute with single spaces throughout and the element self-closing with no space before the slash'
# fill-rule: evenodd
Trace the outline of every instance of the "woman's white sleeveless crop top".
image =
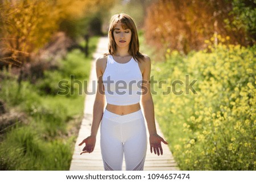
<svg viewBox="0 0 256 182">
<path fill-rule="evenodd" d="M 141 100 L 142 74 L 138 62 L 131 57 L 125 64 L 108 55 L 102 76 L 106 102 L 113 105 L 131 105 Z"/>
</svg>

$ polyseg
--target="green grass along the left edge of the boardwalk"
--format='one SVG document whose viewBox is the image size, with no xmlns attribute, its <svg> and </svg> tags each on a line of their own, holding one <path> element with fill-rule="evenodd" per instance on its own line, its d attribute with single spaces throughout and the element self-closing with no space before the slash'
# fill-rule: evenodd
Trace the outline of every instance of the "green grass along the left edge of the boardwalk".
<svg viewBox="0 0 256 182">
<path fill-rule="evenodd" d="M 19 87 L 15 76 L 1 82 L 0 99 L 26 118 L 1 135 L 0 170 L 69 170 L 85 94 L 79 95 L 75 84 L 74 95 L 57 95 L 58 83 L 75 75 L 84 88 L 97 41 L 90 40 L 88 58 L 72 50 L 59 61 L 59 69 L 45 71 L 35 84 L 22 81 Z"/>
</svg>

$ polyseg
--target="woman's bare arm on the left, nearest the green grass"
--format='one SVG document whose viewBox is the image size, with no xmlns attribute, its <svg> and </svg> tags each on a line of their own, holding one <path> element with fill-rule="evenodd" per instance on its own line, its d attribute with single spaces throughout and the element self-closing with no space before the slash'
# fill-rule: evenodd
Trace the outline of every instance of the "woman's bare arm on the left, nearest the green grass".
<svg viewBox="0 0 256 182">
<path fill-rule="evenodd" d="M 85 147 L 84 149 L 82 149 L 81 154 L 92 153 L 92 151 L 94 150 L 98 128 L 100 126 L 100 122 L 104 112 L 105 99 L 104 99 L 104 86 L 102 82 L 102 62 L 104 62 L 103 59 L 104 58 L 98 58 L 96 60 L 96 74 L 97 74 L 98 84 L 97 84 L 96 98 L 94 100 L 94 105 L 93 105 L 92 127 L 91 127 L 90 136 L 85 138 L 79 144 L 79 146 L 81 146 L 83 143 L 85 143 Z"/>
</svg>

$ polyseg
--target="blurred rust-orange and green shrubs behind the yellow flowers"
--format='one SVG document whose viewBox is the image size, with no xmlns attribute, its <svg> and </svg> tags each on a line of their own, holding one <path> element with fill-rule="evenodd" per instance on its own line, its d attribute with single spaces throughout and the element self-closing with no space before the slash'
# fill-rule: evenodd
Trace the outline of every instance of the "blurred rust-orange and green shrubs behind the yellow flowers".
<svg viewBox="0 0 256 182">
<path fill-rule="evenodd" d="M 253 0 L 159 0 L 148 8 L 145 37 L 157 49 L 184 53 L 205 48 L 214 33 L 229 36 L 233 44 L 253 45 L 254 15 Z"/>
</svg>

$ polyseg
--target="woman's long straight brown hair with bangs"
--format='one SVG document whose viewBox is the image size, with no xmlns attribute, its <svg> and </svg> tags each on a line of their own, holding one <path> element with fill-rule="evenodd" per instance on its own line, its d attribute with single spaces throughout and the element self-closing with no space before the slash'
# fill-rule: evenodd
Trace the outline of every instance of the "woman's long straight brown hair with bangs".
<svg viewBox="0 0 256 182">
<path fill-rule="evenodd" d="M 106 53 L 105 55 L 113 55 L 117 51 L 117 45 L 115 44 L 114 40 L 114 28 L 117 23 L 121 23 L 123 28 L 128 28 L 131 30 L 131 41 L 129 45 L 129 54 L 133 56 L 133 58 L 137 61 L 144 60 L 144 56 L 142 53 L 139 52 L 139 38 L 138 38 L 138 32 L 137 28 L 135 26 L 134 20 L 131 18 L 131 16 L 121 13 L 121 14 L 115 14 L 110 19 L 109 24 L 109 53 Z"/>
</svg>

